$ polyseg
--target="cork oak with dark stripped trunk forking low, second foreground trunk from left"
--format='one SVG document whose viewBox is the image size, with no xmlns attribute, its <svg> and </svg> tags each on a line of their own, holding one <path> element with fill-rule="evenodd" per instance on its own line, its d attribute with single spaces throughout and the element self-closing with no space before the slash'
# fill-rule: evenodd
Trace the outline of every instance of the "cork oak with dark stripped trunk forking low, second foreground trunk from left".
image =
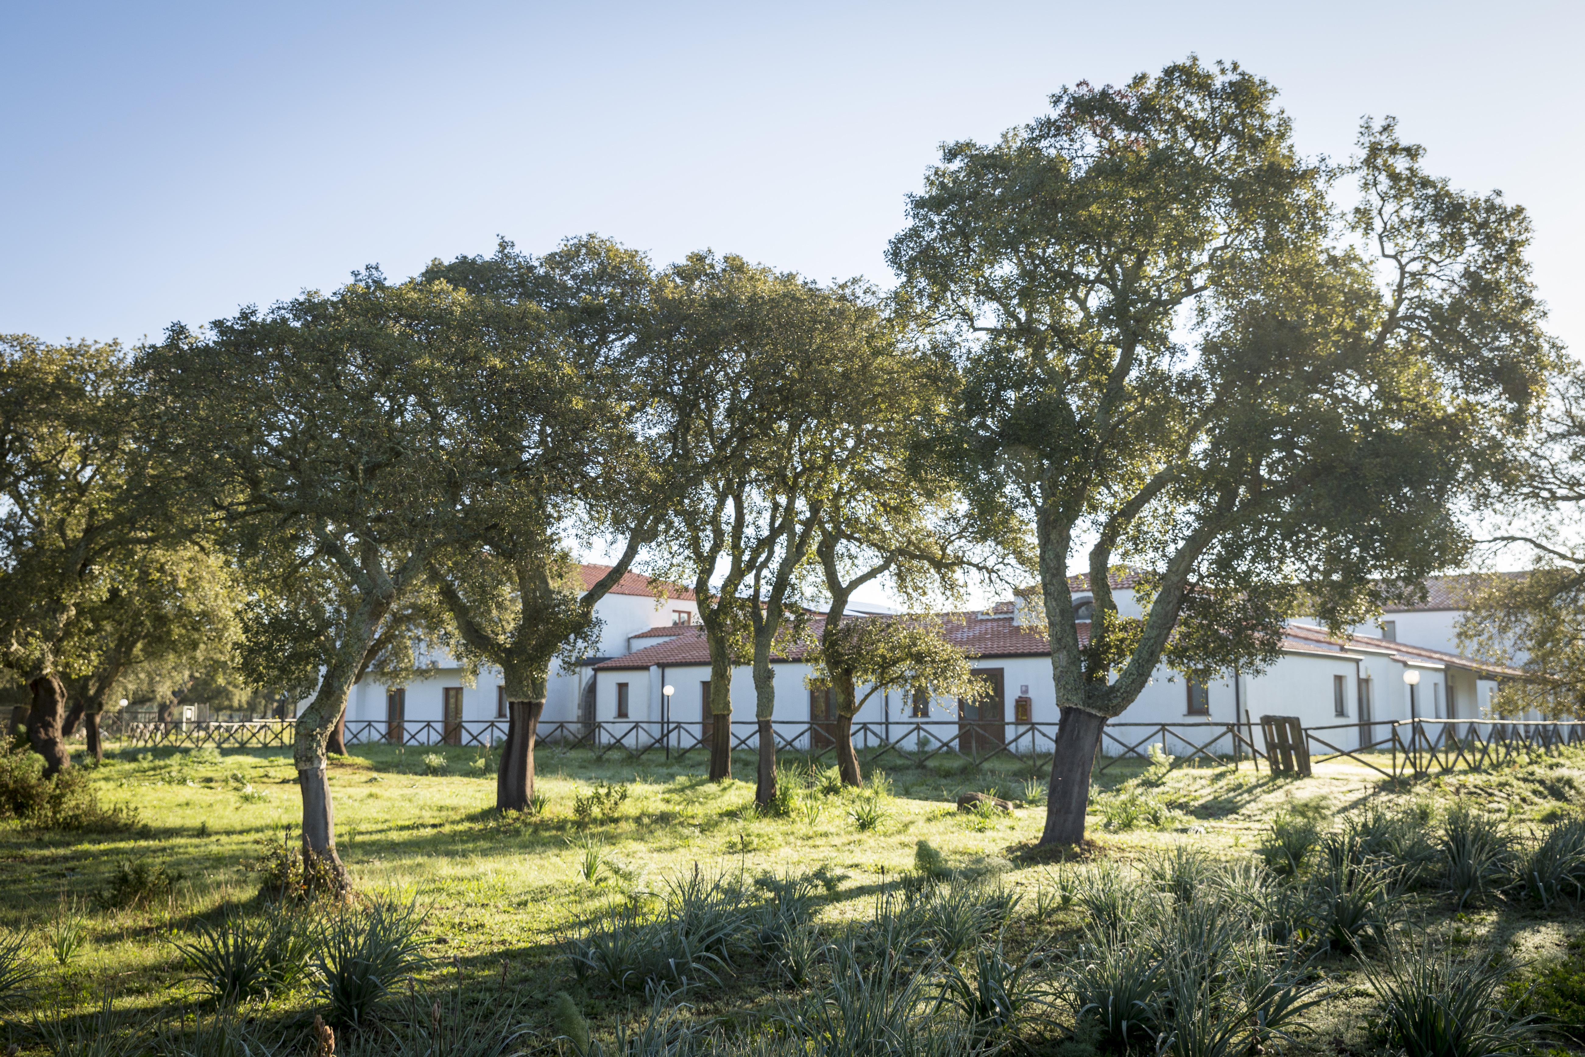
<svg viewBox="0 0 1585 1057">
<path fill-rule="evenodd" d="M 675 434 L 650 399 L 637 341 L 653 277 L 642 255 L 598 236 L 569 239 L 540 258 L 501 242 L 495 257 L 431 265 L 425 276 L 536 306 L 560 338 L 531 350 L 566 385 L 523 409 L 533 428 L 520 472 L 510 487 L 474 499 L 491 510 L 490 525 L 474 545 L 430 563 L 445 643 L 464 662 L 501 669 L 507 738 L 496 808 L 521 811 L 534 796 L 552 661 L 580 659 L 598 645 L 594 604 L 656 537 L 675 491 Z M 567 544 L 590 536 L 613 537 L 620 556 L 585 585 Z"/>
</svg>

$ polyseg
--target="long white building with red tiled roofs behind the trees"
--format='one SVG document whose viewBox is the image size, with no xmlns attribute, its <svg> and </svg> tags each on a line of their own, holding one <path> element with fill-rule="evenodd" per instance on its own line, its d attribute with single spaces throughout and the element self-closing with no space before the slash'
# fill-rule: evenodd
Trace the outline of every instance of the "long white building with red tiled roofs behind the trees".
<svg viewBox="0 0 1585 1057">
<path fill-rule="evenodd" d="M 585 566 L 593 583 L 605 566 Z M 1075 602 L 1087 615 L 1086 580 L 1075 578 Z M 601 653 L 580 666 L 575 675 L 555 675 L 540 723 L 547 738 L 591 737 L 629 745 L 655 743 L 667 737 L 674 746 L 688 748 L 705 740 L 710 724 L 710 656 L 697 624 L 697 604 L 689 591 L 653 585 L 628 575 L 599 604 L 605 621 Z M 1117 609 L 1136 616 L 1132 580 L 1113 585 Z M 1434 599 L 1436 596 L 1433 596 Z M 1426 634 L 1450 629 L 1458 613 L 1444 610 L 1398 610 L 1395 618 L 1428 613 Z M 981 753 L 995 745 L 1014 750 L 1049 748 L 1059 719 L 1051 678 L 1051 650 L 1037 621 L 1025 620 L 1024 602 L 1002 602 L 986 612 L 943 613 L 946 637 L 973 656 L 972 666 L 991 685 L 980 704 L 935 697 L 924 700 L 899 693 L 877 693 L 854 718 L 854 740 L 862 746 L 883 740 L 926 743 L 959 740 Z M 1393 618 L 1387 618 L 1393 620 Z M 812 635 L 816 635 L 816 620 Z M 1079 639 L 1087 639 L 1089 621 L 1079 621 Z M 1168 751 L 1187 753 L 1201 746 L 1219 754 L 1233 750 L 1228 724 L 1260 745 L 1262 715 L 1298 716 L 1304 727 L 1336 727 L 1327 737 L 1339 750 L 1354 750 L 1390 737 L 1385 726 L 1414 716 L 1423 719 L 1474 719 L 1485 715 L 1496 669 L 1458 656 L 1446 648 L 1446 637 L 1431 647 L 1354 634 L 1344 642 L 1316 626 L 1293 623 L 1282 643 L 1282 656 L 1268 670 L 1251 675 L 1228 674 L 1200 686 L 1160 667 L 1140 697 L 1106 727 L 1105 751 L 1116 754 L 1135 743 L 1160 742 L 1159 726 L 1174 724 Z M 506 702 L 499 674 L 485 670 L 477 686 L 463 686 L 460 669 L 445 667 L 444 658 L 433 674 L 406 688 L 361 681 L 349 702 L 350 742 L 391 738 L 407 742 L 460 743 L 499 738 L 499 731 L 463 731 L 456 719 L 504 718 Z M 773 661 L 778 737 L 794 746 L 823 748 L 831 740 L 829 697 L 810 689 L 812 675 L 802 650 L 792 648 Z M 1414 672 L 1411 686 L 1404 674 Z M 670 699 L 664 688 L 674 689 Z M 861 694 L 862 694 L 861 688 Z M 740 738 L 753 738 L 754 686 L 747 666 L 732 672 L 732 721 L 745 724 Z M 452 721 L 450 724 L 447 721 Z M 593 723 L 599 723 L 594 731 Z M 1376 724 L 1376 726 L 1373 726 Z M 1197 734 L 1194 726 L 1206 726 Z M 450 734 L 450 737 L 447 737 Z"/>
</svg>

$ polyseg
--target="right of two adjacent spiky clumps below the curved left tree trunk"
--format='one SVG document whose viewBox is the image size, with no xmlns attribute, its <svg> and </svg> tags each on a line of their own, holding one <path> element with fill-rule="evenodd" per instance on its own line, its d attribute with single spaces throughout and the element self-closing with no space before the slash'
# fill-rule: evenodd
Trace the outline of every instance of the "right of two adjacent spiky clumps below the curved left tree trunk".
<svg viewBox="0 0 1585 1057">
<path fill-rule="evenodd" d="M 423 965 L 417 902 L 376 899 L 323 921 L 314 970 L 331 1024 L 357 1027 L 404 975 Z"/>
</svg>

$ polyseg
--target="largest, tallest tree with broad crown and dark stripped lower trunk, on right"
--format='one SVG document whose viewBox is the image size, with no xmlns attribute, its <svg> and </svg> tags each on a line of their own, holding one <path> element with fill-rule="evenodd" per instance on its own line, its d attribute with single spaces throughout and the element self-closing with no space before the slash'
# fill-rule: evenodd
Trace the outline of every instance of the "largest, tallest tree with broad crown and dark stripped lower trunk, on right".
<svg viewBox="0 0 1585 1057">
<path fill-rule="evenodd" d="M 1298 585 L 1342 626 L 1377 578 L 1457 561 L 1447 504 L 1552 366 L 1520 209 L 1428 176 L 1387 122 L 1338 212 L 1274 98 L 1194 59 L 1065 89 L 945 147 L 889 249 L 959 334 L 965 480 L 1035 529 L 1062 710 L 1043 843 L 1083 838 L 1102 727 L 1162 661 L 1258 667 Z M 1108 590 L 1124 559 L 1140 620 Z"/>
</svg>

